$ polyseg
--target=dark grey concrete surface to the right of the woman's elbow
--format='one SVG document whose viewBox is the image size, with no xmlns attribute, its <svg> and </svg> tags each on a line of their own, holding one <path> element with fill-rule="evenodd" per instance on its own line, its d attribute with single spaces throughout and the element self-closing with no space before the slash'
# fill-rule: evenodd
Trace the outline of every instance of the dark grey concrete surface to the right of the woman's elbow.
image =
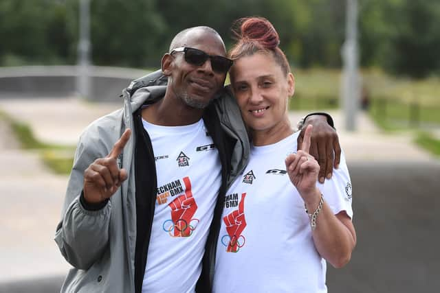
<svg viewBox="0 0 440 293">
<path fill-rule="evenodd" d="M 439 292 L 439 161 L 349 169 L 358 245 L 345 268 L 329 268 L 329 292 Z"/>
</svg>

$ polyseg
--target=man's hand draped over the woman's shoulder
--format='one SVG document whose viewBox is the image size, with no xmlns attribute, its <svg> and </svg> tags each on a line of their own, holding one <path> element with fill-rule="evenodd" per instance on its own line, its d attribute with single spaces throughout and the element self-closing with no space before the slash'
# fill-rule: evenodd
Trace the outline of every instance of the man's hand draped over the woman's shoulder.
<svg viewBox="0 0 440 293">
<path fill-rule="evenodd" d="M 339 167 L 341 157 L 341 147 L 338 134 L 327 123 L 327 117 L 324 115 L 311 115 L 304 121 L 303 129 L 298 136 L 298 150 L 303 144 L 305 130 L 308 125 L 313 125 L 314 130 L 311 133 L 311 145 L 309 153 L 315 157 L 320 166 L 319 182 L 324 183 L 325 178 L 331 178 L 333 166 Z"/>
</svg>

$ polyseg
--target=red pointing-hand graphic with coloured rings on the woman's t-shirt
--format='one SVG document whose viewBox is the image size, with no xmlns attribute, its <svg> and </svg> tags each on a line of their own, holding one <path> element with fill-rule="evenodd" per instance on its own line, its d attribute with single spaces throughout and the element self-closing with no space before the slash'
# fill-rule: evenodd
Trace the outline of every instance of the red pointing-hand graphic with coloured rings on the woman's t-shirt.
<svg viewBox="0 0 440 293">
<path fill-rule="evenodd" d="M 236 209 L 223 217 L 223 222 L 225 222 L 228 235 L 223 235 L 223 237 L 221 237 L 221 244 L 226 246 L 226 252 L 228 253 L 237 253 L 246 242 L 245 237 L 241 235 L 241 232 L 243 232 L 246 227 L 245 196 L 245 193 L 241 194 L 239 209 Z M 229 242 L 227 242 L 228 239 Z"/>
</svg>

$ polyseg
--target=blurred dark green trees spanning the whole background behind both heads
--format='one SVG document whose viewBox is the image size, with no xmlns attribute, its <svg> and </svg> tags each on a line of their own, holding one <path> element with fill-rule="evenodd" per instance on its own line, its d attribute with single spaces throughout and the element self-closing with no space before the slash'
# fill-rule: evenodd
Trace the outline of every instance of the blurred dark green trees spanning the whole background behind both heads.
<svg viewBox="0 0 440 293">
<path fill-rule="evenodd" d="M 360 0 L 360 61 L 393 75 L 440 72 L 439 0 Z M 180 30 L 209 25 L 232 43 L 232 21 L 274 23 L 294 67 L 340 68 L 345 0 L 91 0 L 94 65 L 157 68 Z M 76 62 L 78 0 L 1 0 L 0 66 Z"/>
</svg>

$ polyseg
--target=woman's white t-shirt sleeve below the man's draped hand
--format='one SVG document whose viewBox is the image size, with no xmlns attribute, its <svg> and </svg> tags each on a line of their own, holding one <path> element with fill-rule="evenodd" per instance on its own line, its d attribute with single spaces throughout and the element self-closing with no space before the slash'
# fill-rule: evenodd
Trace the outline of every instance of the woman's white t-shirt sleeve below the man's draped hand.
<svg viewBox="0 0 440 293">
<path fill-rule="evenodd" d="M 331 179 L 326 179 L 323 184 L 318 183 L 318 188 L 335 215 L 345 211 L 353 219 L 353 209 L 351 208 L 352 186 L 344 152 L 341 152 L 339 168 L 333 169 Z"/>
</svg>

